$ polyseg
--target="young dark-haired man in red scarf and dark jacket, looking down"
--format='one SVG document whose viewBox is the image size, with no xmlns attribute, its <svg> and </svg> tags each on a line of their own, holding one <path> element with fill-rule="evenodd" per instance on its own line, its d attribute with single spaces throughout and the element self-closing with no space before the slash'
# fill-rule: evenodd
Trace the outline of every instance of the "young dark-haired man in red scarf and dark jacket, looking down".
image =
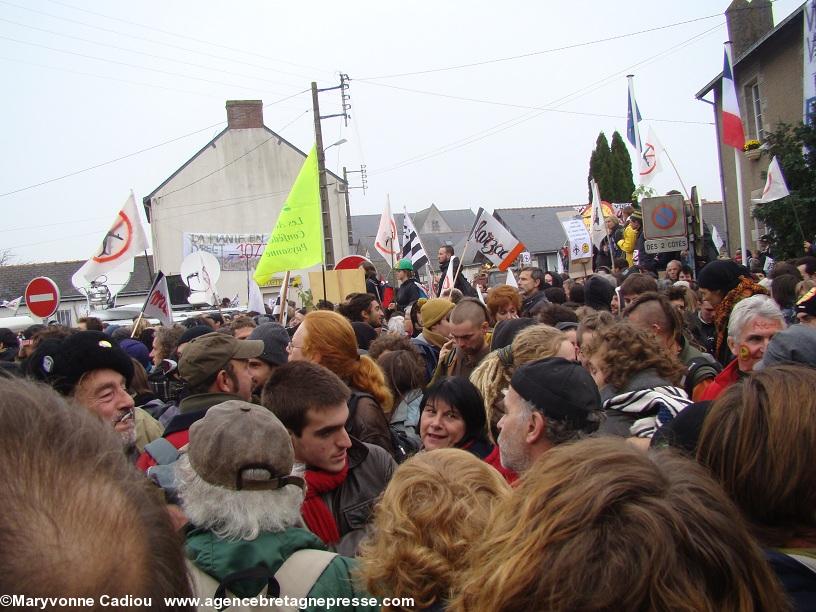
<svg viewBox="0 0 816 612">
<path fill-rule="evenodd" d="M 306 526 L 345 556 L 357 553 L 374 503 L 396 468 L 382 448 L 346 432 L 350 395 L 323 366 L 290 361 L 273 372 L 261 400 L 289 430 L 295 461 L 305 468 Z"/>
</svg>

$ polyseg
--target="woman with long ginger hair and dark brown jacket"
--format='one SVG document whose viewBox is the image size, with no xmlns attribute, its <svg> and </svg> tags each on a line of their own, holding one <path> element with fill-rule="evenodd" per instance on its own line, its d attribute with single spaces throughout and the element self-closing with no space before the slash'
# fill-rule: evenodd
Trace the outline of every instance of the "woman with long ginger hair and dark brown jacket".
<svg viewBox="0 0 816 612">
<path fill-rule="evenodd" d="M 393 456 L 386 414 L 391 412 L 394 397 L 377 363 L 357 353 L 357 337 L 348 319 L 330 310 L 310 312 L 298 325 L 290 346 L 290 361 L 319 363 L 351 388 L 349 434 Z"/>
</svg>

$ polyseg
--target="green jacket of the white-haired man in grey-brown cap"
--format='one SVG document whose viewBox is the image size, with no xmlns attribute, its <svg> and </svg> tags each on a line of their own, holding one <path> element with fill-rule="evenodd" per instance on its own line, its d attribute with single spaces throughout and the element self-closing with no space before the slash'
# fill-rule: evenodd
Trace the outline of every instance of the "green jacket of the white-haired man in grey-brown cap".
<svg viewBox="0 0 816 612">
<path fill-rule="evenodd" d="M 293 553 L 302 549 L 326 550 L 323 542 L 305 529 L 290 527 L 281 533 L 266 532 L 254 540 L 222 540 L 210 531 L 192 528 L 187 533 L 187 558 L 196 567 L 221 582 L 233 572 L 265 563 L 275 573 Z M 352 582 L 351 573 L 356 561 L 335 557 L 309 591 L 314 598 L 371 598 Z M 230 590 L 238 597 L 253 597 L 266 586 L 263 582 L 247 580 L 233 585 Z M 318 610 L 319 608 L 305 608 Z M 377 607 L 334 607 L 332 610 L 377 610 Z"/>
</svg>

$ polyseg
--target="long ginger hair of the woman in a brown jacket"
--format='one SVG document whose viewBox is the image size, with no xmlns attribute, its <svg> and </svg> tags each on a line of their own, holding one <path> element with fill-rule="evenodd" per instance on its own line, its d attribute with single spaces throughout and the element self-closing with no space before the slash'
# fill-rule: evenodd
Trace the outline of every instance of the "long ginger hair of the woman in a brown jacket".
<svg viewBox="0 0 816 612">
<path fill-rule="evenodd" d="M 331 310 L 315 310 L 301 325 L 306 327 L 303 354 L 309 361 L 330 369 L 350 387 L 373 395 L 383 412 L 391 411 L 394 396 L 385 376 L 373 359 L 357 353 L 357 337 L 348 319 Z"/>
</svg>

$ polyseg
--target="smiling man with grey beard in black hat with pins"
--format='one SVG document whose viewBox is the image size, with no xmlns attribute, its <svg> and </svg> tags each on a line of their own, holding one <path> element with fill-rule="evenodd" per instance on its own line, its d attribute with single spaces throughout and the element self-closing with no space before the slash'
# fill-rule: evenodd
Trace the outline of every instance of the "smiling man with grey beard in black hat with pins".
<svg viewBox="0 0 816 612">
<path fill-rule="evenodd" d="M 35 378 L 110 423 L 133 460 L 139 454 L 137 439 L 143 446 L 161 437 L 161 425 L 134 408 L 128 393 L 133 362 L 104 333 L 81 331 L 45 341 L 32 354 L 28 369 Z"/>
</svg>

